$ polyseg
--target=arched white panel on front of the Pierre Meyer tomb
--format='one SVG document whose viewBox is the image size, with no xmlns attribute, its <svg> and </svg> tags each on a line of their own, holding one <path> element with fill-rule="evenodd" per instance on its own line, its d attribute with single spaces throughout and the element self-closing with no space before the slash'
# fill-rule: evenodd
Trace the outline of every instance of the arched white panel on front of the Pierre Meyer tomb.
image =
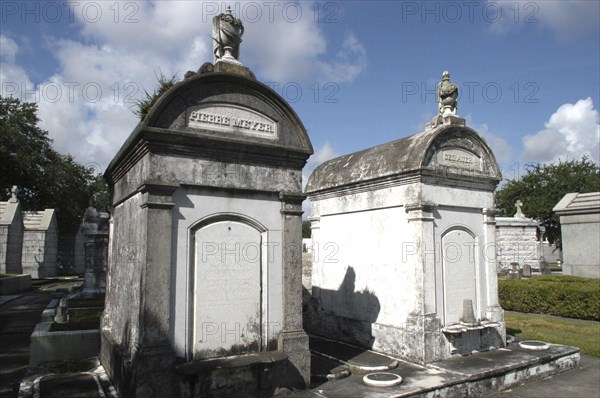
<svg viewBox="0 0 600 398">
<path fill-rule="evenodd" d="M 262 236 L 256 226 L 216 217 L 194 237 L 194 358 L 260 351 Z"/>
</svg>

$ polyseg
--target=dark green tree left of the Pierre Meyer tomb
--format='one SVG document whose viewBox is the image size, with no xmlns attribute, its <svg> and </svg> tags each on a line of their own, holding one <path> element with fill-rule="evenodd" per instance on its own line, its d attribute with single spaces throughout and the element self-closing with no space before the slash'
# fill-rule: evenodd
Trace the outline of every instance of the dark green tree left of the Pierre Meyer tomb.
<svg viewBox="0 0 600 398">
<path fill-rule="evenodd" d="M 91 167 L 52 148 L 36 113 L 34 103 L 0 96 L 0 196 L 10 197 L 18 185 L 23 210 L 56 209 L 59 229 L 67 231 L 80 222 L 92 191 L 102 187 Z"/>
</svg>

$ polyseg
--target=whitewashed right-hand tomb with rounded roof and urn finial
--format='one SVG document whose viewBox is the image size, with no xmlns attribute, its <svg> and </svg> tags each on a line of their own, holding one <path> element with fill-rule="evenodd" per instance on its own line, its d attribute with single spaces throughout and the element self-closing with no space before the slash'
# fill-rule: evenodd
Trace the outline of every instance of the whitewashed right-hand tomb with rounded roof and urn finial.
<svg viewBox="0 0 600 398">
<path fill-rule="evenodd" d="M 312 206 L 311 334 L 410 361 L 505 345 L 494 154 L 456 116 L 444 74 L 425 131 L 320 165 Z"/>
</svg>

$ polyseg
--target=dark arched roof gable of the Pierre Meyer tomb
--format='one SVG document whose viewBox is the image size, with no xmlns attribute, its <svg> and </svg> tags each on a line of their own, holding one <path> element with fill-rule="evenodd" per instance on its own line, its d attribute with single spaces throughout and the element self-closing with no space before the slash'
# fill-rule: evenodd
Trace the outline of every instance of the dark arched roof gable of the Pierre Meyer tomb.
<svg viewBox="0 0 600 398">
<path fill-rule="evenodd" d="M 243 75 L 198 73 L 169 89 L 137 125 L 108 166 L 116 179 L 137 153 L 251 157 L 302 167 L 313 153 L 296 112 L 268 86 Z M 215 155 L 218 154 L 218 155 Z"/>
</svg>

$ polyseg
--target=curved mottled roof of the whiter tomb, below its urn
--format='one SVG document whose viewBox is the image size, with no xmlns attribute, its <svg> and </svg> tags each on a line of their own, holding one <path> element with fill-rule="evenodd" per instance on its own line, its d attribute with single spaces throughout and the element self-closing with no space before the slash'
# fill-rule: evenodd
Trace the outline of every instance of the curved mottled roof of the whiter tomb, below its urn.
<svg viewBox="0 0 600 398">
<path fill-rule="evenodd" d="M 475 130 L 445 124 L 324 162 L 311 174 L 306 192 L 427 176 L 441 184 L 468 179 L 493 187 L 502 178 L 492 150 Z"/>
</svg>

